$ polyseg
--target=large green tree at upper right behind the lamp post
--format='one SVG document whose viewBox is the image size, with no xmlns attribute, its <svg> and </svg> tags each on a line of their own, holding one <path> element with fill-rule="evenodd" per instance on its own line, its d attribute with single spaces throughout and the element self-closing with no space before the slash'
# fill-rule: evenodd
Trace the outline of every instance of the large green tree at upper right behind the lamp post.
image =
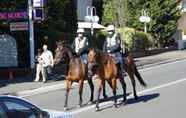
<svg viewBox="0 0 186 118">
<path fill-rule="evenodd" d="M 175 0 L 129 0 L 127 26 L 142 30 L 143 23 L 140 23 L 139 17 L 142 9 L 146 9 L 151 17 L 148 31 L 157 39 L 159 47 L 162 47 L 177 29 L 176 24 L 180 18 L 177 6 Z"/>
</svg>

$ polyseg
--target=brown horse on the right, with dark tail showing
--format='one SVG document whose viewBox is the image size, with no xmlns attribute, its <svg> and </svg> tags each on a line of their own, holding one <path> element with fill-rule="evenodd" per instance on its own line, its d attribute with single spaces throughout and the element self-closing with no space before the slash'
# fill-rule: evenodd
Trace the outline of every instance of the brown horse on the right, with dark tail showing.
<svg viewBox="0 0 186 118">
<path fill-rule="evenodd" d="M 101 84 L 100 84 L 100 88 L 99 88 L 99 93 L 98 93 L 98 101 L 97 101 L 97 105 L 96 108 L 99 109 L 99 96 L 100 96 L 100 91 L 103 88 L 103 92 L 105 93 L 105 80 L 108 79 L 112 79 L 111 83 L 109 82 L 109 85 L 112 87 L 113 89 L 113 93 L 114 96 L 116 95 L 116 79 L 119 78 L 120 83 L 122 85 L 123 88 L 123 103 L 126 103 L 126 84 L 124 81 L 124 78 L 121 77 L 121 72 L 119 71 L 119 66 L 117 66 L 113 60 L 113 57 L 111 57 L 108 53 L 104 53 L 104 52 L 96 52 L 94 49 L 91 49 L 89 51 L 89 55 L 88 55 L 88 62 L 89 63 L 98 63 L 98 69 L 97 69 L 97 74 L 99 75 L 99 77 L 101 78 Z M 137 77 L 137 79 L 139 80 L 140 84 L 144 87 L 146 87 L 146 83 L 144 82 L 144 80 L 142 79 L 140 73 L 138 72 L 136 65 L 134 63 L 134 59 L 132 57 L 131 53 L 127 52 L 127 58 L 124 60 L 125 61 L 125 69 L 129 75 L 129 78 L 132 82 L 132 86 L 133 86 L 133 93 L 134 93 L 134 97 L 135 99 L 138 98 L 137 94 L 136 94 L 136 82 L 135 82 L 135 77 Z M 112 84 L 112 85 L 111 85 Z M 116 97 L 115 98 L 115 105 L 116 105 Z"/>
</svg>

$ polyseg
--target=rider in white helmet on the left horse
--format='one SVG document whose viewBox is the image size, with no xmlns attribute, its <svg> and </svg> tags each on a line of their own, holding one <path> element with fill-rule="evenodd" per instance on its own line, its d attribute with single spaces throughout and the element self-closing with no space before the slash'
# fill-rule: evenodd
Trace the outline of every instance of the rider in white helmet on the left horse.
<svg viewBox="0 0 186 118">
<path fill-rule="evenodd" d="M 83 63 L 87 64 L 87 53 L 89 48 L 88 39 L 84 36 L 85 30 L 80 28 L 77 30 L 77 37 L 75 38 L 72 49 L 81 57 Z"/>
</svg>

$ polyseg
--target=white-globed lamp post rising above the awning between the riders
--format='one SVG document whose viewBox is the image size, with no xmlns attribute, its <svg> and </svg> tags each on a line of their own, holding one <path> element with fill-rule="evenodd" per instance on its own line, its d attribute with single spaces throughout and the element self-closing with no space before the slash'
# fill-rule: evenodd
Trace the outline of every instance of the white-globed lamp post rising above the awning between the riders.
<svg viewBox="0 0 186 118">
<path fill-rule="evenodd" d="M 91 23 L 91 35 L 94 35 L 94 23 L 98 23 L 99 17 L 96 15 L 96 8 L 94 6 L 87 6 L 85 21 Z"/>
</svg>

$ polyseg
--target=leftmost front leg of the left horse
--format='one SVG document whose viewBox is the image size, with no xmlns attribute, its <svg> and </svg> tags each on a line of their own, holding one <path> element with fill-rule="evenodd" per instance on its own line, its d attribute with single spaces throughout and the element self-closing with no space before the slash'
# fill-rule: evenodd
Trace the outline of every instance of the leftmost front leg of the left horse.
<svg viewBox="0 0 186 118">
<path fill-rule="evenodd" d="M 68 95 L 72 86 L 72 81 L 70 80 L 66 80 L 66 93 L 65 93 L 65 106 L 64 106 L 64 110 L 66 111 L 68 109 Z"/>
</svg>

